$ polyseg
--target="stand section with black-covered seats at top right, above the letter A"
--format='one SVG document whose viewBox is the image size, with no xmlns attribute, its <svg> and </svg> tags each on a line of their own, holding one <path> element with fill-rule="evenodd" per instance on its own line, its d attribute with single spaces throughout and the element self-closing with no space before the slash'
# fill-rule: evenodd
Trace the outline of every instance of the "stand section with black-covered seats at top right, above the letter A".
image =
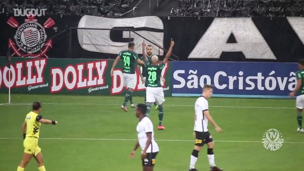
<svg viewBox="0 0 304 171">
<path fill-rule="evenodd" d="M 304 17 L 304 0 L 180 0 L 170 16 Z"/>
</svg>

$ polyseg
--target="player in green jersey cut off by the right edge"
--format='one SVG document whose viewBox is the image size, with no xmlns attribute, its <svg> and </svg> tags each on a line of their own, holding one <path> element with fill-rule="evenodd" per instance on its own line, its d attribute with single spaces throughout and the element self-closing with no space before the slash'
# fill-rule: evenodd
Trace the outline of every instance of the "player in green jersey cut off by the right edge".
<svg viewBox="0 0 304 171">
<path fill-rule="evenodd" d="M 304 107 L 304 59 L 299 60 L 299 71 L 296 73 L 297 84 L 295 90 L 289 94 L 289 97 L 293 97 L 295 93 L 300 94 L 297 96 L 295 106 L 297 108 L 297 120 L 299 128 L 298 132 L 304 132 L 302 128 L 302 111 Z"/>
</svg>

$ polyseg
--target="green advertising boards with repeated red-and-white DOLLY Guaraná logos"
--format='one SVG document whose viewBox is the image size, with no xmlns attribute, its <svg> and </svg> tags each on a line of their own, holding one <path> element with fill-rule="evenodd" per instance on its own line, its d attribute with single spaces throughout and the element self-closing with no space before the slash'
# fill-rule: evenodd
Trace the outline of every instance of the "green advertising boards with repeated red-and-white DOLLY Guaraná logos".
<svg viewBox="0 0 304 171">
<path fill-rule="evenodd" d="M 0 92 L 12 93 L 63 93 L 63 94 L 122 94 L 122 61 L 114 70 L 114 60 L 86 59 L 31 59 L 11 58 L 11 69 L 6 67 L 4 57 L 0 57 Z M 9 80 L 11 72 L 11 80 Z M 171 62 L 167 62 L 161 81 L 165 96 L 171 96 Z M 136 71 L 134 95 L 144 95 L 145 87 Z"/>
</svg>

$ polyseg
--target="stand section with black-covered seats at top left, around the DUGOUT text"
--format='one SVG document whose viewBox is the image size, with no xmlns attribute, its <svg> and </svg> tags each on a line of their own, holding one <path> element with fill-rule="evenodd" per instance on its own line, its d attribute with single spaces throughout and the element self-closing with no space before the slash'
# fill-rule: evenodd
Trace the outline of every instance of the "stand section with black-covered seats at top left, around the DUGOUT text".
<svg viewBox="0 0 304 171">
<path fill-rule="evenodd" d="M 47 9 L 46 14 L 114 17 L 130 0 L 0 0 L 0 13 L 13 9 Z"/>
</svg>

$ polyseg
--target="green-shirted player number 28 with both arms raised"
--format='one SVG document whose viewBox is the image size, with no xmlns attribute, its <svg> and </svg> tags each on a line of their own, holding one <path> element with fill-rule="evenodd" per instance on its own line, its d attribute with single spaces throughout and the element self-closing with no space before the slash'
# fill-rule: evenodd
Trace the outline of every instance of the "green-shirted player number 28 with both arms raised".
<svg viewBox="0 0 304 171">
<path fill-rule="evenodd" d="M 150 109 L 155 102 L 158 105 L 158 118 L 159 118 L 159 123 L 158 123 L 158 130 L 163 130 L 165 129 L 164 125 L 162 125 L 163 117 L 164 117 L 164 109 L 163 109 L 163 102 L 164 102 L 164 90 L 163 87 L 161 87 L 161 70 L 165 67 L 166 62 L 168 61 L 172 48 L 174 46 L 174 41 L 171 39 L 170 43 L 170 48 L 168 50 L 168 53 L 166 54 L 165 59 L 163 60 L 162 63 L 157 64 L 158 62 L 158 57 L 156 55 L 153 55 L 151 57 L 151 63 L 149 63 L 146 54 L 144 53 L 144 48 L 145 43 L 143 42 L 143 57 L 145 61 L 145 67 L 147 71 L 147 77 L 146 77 L 146 84 L 147 84 L 147 89 L 146 89 L 146 96 L 147 96 L 147 112 L 146 116 L 149 116 L 150 114 Z"/>
</svg>

